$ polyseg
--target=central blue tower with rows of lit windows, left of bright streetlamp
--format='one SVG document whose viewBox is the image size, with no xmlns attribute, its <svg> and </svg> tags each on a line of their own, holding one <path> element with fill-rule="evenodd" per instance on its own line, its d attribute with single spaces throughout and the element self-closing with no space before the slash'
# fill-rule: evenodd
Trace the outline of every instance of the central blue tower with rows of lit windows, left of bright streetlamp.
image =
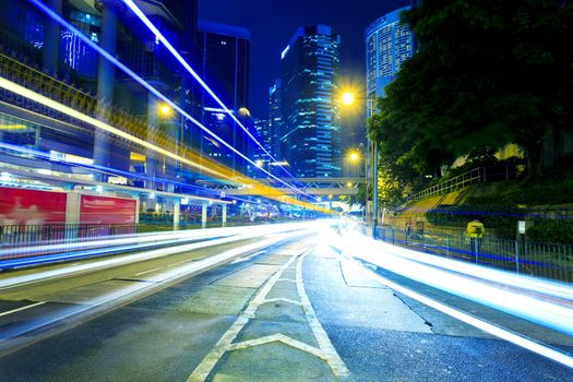
<svg viewBox="0 0 573 382">
<path fill-rule="evenodd" d="M 282 53 L 282 156 L 297 178 L 341 175 L 339 44 L 330 26 L 300 27 Z"/>
</svg>

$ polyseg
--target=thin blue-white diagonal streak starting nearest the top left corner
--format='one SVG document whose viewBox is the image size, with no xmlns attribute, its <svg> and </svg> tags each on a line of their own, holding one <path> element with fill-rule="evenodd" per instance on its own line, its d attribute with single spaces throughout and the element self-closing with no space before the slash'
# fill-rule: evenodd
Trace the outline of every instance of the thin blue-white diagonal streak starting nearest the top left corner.
<svg viewBox="0 0 573 382">
<path fill-rule="evenodd" d="M 230 144 L 228 144 L 227 142 L 225 142 L 223 139 L 220 139 L 218 135 L 216 135 L 214 132 L 212 132 L 210 129 L 207 129 L 205 126 L 203 126 L 201 122 L 199 122 L 196 119 L 194 119 L 193 117 L 191 117 L 191 115 L 189 115 L 187 111 L 184 111 L 181 107 L 179 107 L 179 105 L 175 104 L 171 99 L 169 99 L 167 96 L 165 96 L 163 93 L 160 93 L 159 91 L 157 91 L 155 87 L 153 87 L 150 83 L 147 83 L 145 80 L 143 80 L 140 75 L 138 75 L 135 72 L 133 72 L 131 69 L 129 69 L 128 67 L 126 67 L 121 61 L 117 60 L 114 56 L 111 56 L 107 50 L 103 49 L 99 45 L 97 45 L 96 43 L 92 41 L 91 38 L 88 38 L 87 36 L 85 36 L 81 31 L 79 31 L 76 27 L 74 27 L 73 25 L 71 25 L 70 23 L 68 23 L 63 17 L 61 17 L 58 13 L 53 12 L 53 10 L 51 10 L 49 7 L 47 7 L 45 3 L 43 3 L 41 1 L 39 0 L 28 0 L 29 2 L 32 2 L 36 8 L 38 8 L 41 12 L 46 13 L 49 17 L 51 17 L 53 21 L 58 22 L 60 25 L 62 25 L 64 28 L 67 28 L 68 31 L 74 33 L 75 35 L 77 35 L 77 37 L 80 39 L 82 39 L 82 41 L 84 41 L 87 46 L 89 46 L 92 49 L 94 49 L 95 51 L 97 51 L 99 55 L 102 55 L 106 60 L 108 60 L 109 62 L 114 63 L 117 68 L 121 69 L 126 74 L 128 74 L 129 76 L 131 76 L 133 80 L 135 80 L 139 84 L 141 84 L 143 87 L 145 87 L 147 91 L 150 91 L 152 94 L 154 94 L 157 98 L 162 99 L 163 102 L 165 102 L 167 105 L 169 105 L 171 108 L 174 108 L 175 110 L 177 110 L 180 115 L 184 116 L 187 119 L 189 119 L 191 122 L 193 122 L 194 124 L 196 124 L 199 128 L 201 128 L 203 131 L 207 132 L 211 136 L 213 136 L 213 139 L 215 139 L 217 142 L 219 142 L 220 144 L 223 144 L 224 146 L 226 146 L 227 148 L 229 148 L 230 151 L 232 151 L 234 153 L 236 153 L 237 155 L 239 155 L 241 158 L 243 158 L 244 160 L 249 162 L 251 165 L 256 166 L 256 164 L 251 160 L 249 157 L 247 157 L 244 154 L 242 154 L 241 152 L 239 152 L 238 150 L 236 150 L 235 147 L 232 147 Z M 172 154 L 172 156 L 177 156 L 175 154 Z M 172 156 L 169 156 L 170 158 L 174 158 Z M 179 156 L 177 156 L 179 157 Z M 188 160 L 188 159 L 186 159 Z M 258 167 L 259 168 L 259 167 Z M 309 199 L 314 199 L 313 196 L 305 193 L 303 191 L 299 190 L 298 188 L 291 186 L 290 183 L 287 183 L 285 182 L 283 179 L 276 177 L 275 175 L 266 171 L 265 169 L 263 168 L 260 168 L 261 171 L 263 171 L 264 174 L 268 175 L 271 178 L 273 179 L 276 179 L 277 181 L 279 181 L 280 183 L 285 184 L 287 188 L 296 191 L 297 193 L 299 194 L 302 194 Z M 223 177 L 224 179 L 229 179 L 229 177 Z"/>
</svg>

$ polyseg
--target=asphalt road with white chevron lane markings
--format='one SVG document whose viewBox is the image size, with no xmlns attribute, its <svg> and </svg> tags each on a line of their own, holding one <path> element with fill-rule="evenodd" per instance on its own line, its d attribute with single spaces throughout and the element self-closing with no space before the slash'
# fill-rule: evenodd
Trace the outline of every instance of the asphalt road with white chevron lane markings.
<svg viewBox="0 0 573 382">
<path fill-rule="evenodd" d="M 156 282 L 256 241 L 0 290 L 0 380 L 573 381 L 573 369 L 365 277 L 317 235 Z M 570 337 L 377 272 L 573 353 Z M 131 294 L 142 285 L 150 288 Z M 114 303 L 94 302 L 123 291 Z"/>
</svg>

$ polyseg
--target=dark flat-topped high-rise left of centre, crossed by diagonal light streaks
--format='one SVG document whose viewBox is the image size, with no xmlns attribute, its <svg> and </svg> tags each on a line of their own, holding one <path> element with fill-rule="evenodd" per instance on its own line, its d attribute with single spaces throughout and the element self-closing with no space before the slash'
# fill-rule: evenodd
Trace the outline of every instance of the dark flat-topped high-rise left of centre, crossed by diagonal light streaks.
<svg viewBox="0 0 573 382">
<path fill-rule="evenodd" d="M 246 28 L 199 22 L 199 47 L 201 51 L 200 75 L 217 97 L 237 116 L 249 115 L 249 60 L 250 33 Z M 248 136 L 232 118 L 226 116 L 206 92 L 202 94 L 203 122 L 227 143 L 242 153 L 248 151 Z M 243 123 L 244 124 L 244 123 Z M 201 131 L 199 145 L 204 155 L 242 172 L 244 163 Z"/>
</svg>

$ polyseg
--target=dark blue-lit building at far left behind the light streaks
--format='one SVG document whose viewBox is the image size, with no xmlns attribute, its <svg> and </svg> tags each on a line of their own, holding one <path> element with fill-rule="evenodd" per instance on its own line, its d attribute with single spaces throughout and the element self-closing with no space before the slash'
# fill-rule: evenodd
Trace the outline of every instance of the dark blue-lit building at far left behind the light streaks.
<svg viewBox="0 0 573 382">
<path fill-rule="evenodd" d="M 131 11 L 121 7 L 120 2 L 50 0 L 46 3 L 93 43 L 176 98 L 174 94 L 181 87 L 181 77 L 175 60 L 163 45 L 157 44 L 156 36 L 134 20 Z M 196 9 L 196 0 L 154 1 L 146 4 L 144 12 L 174 44 L 182 46 L 196 29 L 196 22 L 193 22 L 196 14 L 178 12 L 177 7 L 183 10 Z M 31 84 L 36 86 L 36 91 L 62 103 L 70 103 L 72 107 L 99 120 L 119 123 L 118 127 L 123 129 L 128 129 L 128 121 L 135 121 L 135 118 L 140 126 L 151 126 L 150 130 L 159 124 L 156 123 L 155 97 L 150 97 L 143 87 L 116 70 L 88 44 L 27 1 L 0 2 L 0 60 L 12 63 L 2 73 L 4 76 L 33 79 Z M 44 109 L 40 114 L 47 114 L 51 119 L 40 121 L 39 117 L 35 118 L 37 126 L 31 124 L 23 130 L 28 135 L 35 132 L 31 145 L 33 148 L 60 156 L 72 154 L 81 157 L 83 163 L 123 171 L 134 168 L 142 171 L 145 168 L 148 175 L 155 176 L 148 169 L 159 168 L 162 175 L 172 175 L 169 164 L 164 166 L 157 162 L 157 166 L 152 166 L 153 159 L 145 157 L 146 153 L 141 146 L 127 145 L 118 138 L 100 134 L 91 126 L 83 127 L 83 130 L 62 128 L 55 121 L 62 119 L 61 116 Z M 114 120 L 110 116 L 115 117 Z M 0 117 L 10 120 L 15 118 L 7 110 Z M 26 118 L 29 120 L 29 116 Z M 79 124 L 69 118 L 63 118 L 63 121 L 69 127 Z M 175 135 L 171 134 L 175 129 L 167 124 L 179 126 L 170 121 L 163 121 L 162 124 L 160 128 L 171 136 Z M 19 138 L 14 136 L 13 140 L 17 142 Z M 28 141 L 32 142 L 26 138 L 26 144 Z M 132 152 L 141 155 L 131 155 Z M 134 164 L 131 157 L 143 159 Z"/>
</svg>

